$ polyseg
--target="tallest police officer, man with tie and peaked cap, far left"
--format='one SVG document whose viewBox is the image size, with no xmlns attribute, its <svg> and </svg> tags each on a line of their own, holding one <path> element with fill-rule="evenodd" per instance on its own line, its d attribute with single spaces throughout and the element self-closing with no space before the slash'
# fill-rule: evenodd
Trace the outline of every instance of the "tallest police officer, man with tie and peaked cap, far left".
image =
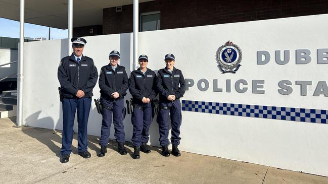
<svg viewBox="0 0 328 184">
<path fill-rule="evenodd" d="M 80 37 L 71 39 L 73 53 L 62 58 L 58 68 L 58 80 L 63 93 L 63 139 L 60 162 L 69 161 L 72 152 L 73 125 L 77 109 L 78 154 L 90 158 L 87 151 L 87 121 L 91 107 L 92 89 L 98 79 L 93 60 L 82 54 L 86 40 Z"/>
</svg>

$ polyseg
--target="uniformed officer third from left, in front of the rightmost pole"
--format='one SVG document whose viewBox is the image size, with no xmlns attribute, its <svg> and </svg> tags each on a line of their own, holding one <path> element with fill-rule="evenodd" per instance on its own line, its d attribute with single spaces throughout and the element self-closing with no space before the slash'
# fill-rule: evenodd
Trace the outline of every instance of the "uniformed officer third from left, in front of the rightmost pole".
<svg viewBox="0 0 328 184">
<path fill-rule="evenodd" d="M 156 84 L 154 71 L 147 68 L 148 56 L 139 56 L 139 66 L 132 71 L 129 78 L 129 91 L 132 95 L 132 144 L 134 148 L 133 158 L 139 159 L 139 151 L 150 153 L 147 146 L 149 141 L 149 127 L 154 117 L 151 101 L 156 97 Z"/>
</svg>

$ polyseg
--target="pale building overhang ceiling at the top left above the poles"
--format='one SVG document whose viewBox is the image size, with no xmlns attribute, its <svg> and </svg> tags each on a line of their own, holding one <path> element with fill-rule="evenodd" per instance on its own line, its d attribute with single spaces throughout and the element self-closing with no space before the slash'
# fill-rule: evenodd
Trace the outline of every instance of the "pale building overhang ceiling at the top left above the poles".
<svg viewBox="0 0 328 184">
<path fill-rule="evenodd" d="M 154 0 L 139 0 L 139 3 Z M 132 0 L 74 0 L 73 27 L 103 24 L 103 9 L 133 4 Z M 19 0 L 0 0 L 0 17 L 19 21 Z M 67 29 L 67 0 L 25 0 L 25 22 Z"/>
</svg>

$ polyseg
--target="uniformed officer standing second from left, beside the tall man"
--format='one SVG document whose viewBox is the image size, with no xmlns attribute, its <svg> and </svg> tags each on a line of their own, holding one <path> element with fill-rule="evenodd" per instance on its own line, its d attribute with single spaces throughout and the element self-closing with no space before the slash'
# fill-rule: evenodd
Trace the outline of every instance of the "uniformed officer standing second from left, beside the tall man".
<svg viewBox="0 0 328 184">
<path fill-rule="evenodd" d="M 102 67 L 99 76 L 100 100 L 103 106 L 103 121 L 100 138 L 99 157 L 105 156 L 107 153 L 108 138 L 112 124 L 115 127 L 115 138 L 118 143 L 118 152 L 126 155 L 124 148 L 125 133 L 123 119 L 125 114 L 124 96 L 128 88 L 128 77 L 125 67 L 119 66 L 117 63 L 120 59 L 120 53 L 116 50 L 109 54 L 110 64 Z"/>
</svg>

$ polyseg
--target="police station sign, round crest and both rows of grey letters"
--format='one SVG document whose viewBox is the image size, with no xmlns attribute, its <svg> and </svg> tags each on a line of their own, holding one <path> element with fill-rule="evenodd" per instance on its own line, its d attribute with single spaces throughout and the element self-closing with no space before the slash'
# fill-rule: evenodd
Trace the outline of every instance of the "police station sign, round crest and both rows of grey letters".
<svg viewBox="0 0 328 184">
<path fill-rule="evenodd" d="M 274 60 L 276 65 L 286 65 L 290 61 L 290 50 L 284 50 L 283 58 L 281 50 L 274 51 Z M 260 50 L 256 53 L 256 64 L 266 65 L 271 60 L 271 54 L 269 51 Z M 328 64 L 328 48 L 319 48 L 316 50 L 317 60 L 315 61 L 317 65 Z M 307 65 L 312 61 L 311 50 L 309 49 L 296 49 L 295 50 L 295 65 Z M 232 42 L 228 41 L 224 45 L 218 48 L 216 52 L 216 58 L 219 70 L 222 74 L 226 73 L 236 73 L 241 67 L 242 52 L 241 49 Z M 255 62 L 255 61 L 254 61 Z M 291 70 L 293 72 L 293 70 Z M 294 71 L 295 72 L 295 71 Z M 185 79 L 186 90 L 194 87 L 194 79 Z M 235 90 L 238 93 L 246 93 L 250 91 L 253 94 L 265 94 L 264 86 L 265 80 L 253 79 L 252 81 L 247 81 L 245 79 L 239 79 L 236 81 L 231 81 L 231 79 L 226 79 L 225 81 L 220 81 L 219 79 L 213 79 L 209 81 L 208 79 L 200 79 L 196 81 L 197 88 L 200 91 L 207 91 L 212 87 L 213 92 L 231 92 Z M 272 84 L 269 84 L 272 85 Z M 318 81 L 313 83 L 311 80 L 296 80 L 291 81 L 289 79 L 277 81 L 276 84 L 277 92 L 280 95 L 290 95 L 293 92 L 299 91 L 301 96 L 320 96 L 323 95 L 328 97 L 328 86 L 326 81 Z M 307 86 L 315 85 L 315 90 L 312 94 L 307 93 Z M 232 87 L 231 87 L 232 86 Z M 298 86 L 298 87 L 297 87 Z M 251 90 L 249 89 L 251 88 Z"/>
</svg>

